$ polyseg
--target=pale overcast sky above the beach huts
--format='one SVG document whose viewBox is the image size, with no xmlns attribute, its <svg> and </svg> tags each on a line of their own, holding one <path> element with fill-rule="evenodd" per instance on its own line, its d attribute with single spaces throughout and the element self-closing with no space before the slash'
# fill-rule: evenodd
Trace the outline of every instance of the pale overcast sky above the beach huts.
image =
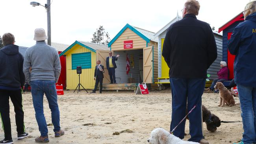
<svg viewBox="0 0 256 144">
<path fill-rule="evenodd" d="M 46 0 L 34 0 L 46 4 Z M 197 18 L 215 30 L 243 11 L 250 0 L 198 0 Z M 43 6 L 32 7 L 32 0 L 0 0 L 0 36 L 13 33 L 16 45 L 30 47 L 35 28 L 47 33 L 47 13 Z M 186 0 L 52 0 L 52 42 L 71 45 L 76 40 L 91 41 L 103 26 L 112 39 L 128 23 L 157 32 L 181 10 Z"/>
</svg>

